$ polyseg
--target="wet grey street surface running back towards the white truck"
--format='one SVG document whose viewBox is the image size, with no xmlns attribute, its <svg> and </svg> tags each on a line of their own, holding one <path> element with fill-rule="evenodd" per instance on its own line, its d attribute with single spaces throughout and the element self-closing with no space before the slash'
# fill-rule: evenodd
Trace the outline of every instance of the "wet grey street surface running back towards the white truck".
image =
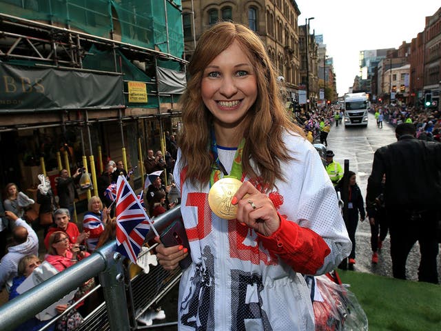
<svg viewBox="0 0 441 331">
<path fill-rule="evenodd" d="M 373 153 L 380 147 L 396 141 L 395 128 L 383 123 L 383 128 L 377 128 L 373 114 L 369 114 L 367 128 L 345 128 L 331 126 L 327 139 L 328 150 L 333 150 L 342 167 L 345 159 L 349 160 L 349 170 L 357 174 L 357 183 L 360 186 L 363 199 L 366 197 L 367 179 L 371 173 Z M 382 276 L 392 277 L 389 234 L 383 242 L 379 252 L 378 264 L 371 263 L 371 228 L 369 221 L 358 222 L 356 231 L 356 264 L 354 270 L 370 272 Z M 406 274 L 409 280 L 418 280 L 418 265 L 420 264 L 419 245 L 416 243 L 407 259 Z M 438 255 L 438 279 L 441 283 L 441 260 Z"/>
</svg>

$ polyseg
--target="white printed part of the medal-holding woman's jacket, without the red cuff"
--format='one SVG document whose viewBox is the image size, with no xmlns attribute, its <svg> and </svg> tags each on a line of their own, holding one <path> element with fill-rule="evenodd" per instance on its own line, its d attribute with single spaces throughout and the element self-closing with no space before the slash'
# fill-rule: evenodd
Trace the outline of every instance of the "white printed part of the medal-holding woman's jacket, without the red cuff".
<svg viewBox="0 0 441 331">
<path fill-rule="evenodd" d="M 294 161 L 282 163 L 287 181 L 277 181 L 271 195 L 278 197 L 281 215 L 314 230 L 331 249 L 317 272 L 322 274 L 347 257 L 351 241 L 318 153 L 302 137 L 285 134 L 284 140 Z M 181 179 L 180 157 L 181 151 L 175 179 Z M 223 153 L 219 157 L 227 168 Z M 269 254 L 254 230 L 217 217 L 207 202 L 209 185 L 176 185 L 193 260 L 181 278 L 178 330 L 314 330 L 302 274 Z"/>
</svg>

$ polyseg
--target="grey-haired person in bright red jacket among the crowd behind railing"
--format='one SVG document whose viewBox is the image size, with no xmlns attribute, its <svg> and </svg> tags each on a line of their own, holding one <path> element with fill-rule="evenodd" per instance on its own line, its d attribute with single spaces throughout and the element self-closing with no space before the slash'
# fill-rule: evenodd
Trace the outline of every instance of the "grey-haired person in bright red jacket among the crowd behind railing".
<svg viewBox="0 0 441 331">
<path fill-rule="evenodd" d="M 70 222 L 70 213 L 66 208 L 59 208 L 54 212 L 54 222 L 56 227 L 49 228 L 48 234 L 44 239 L 45 248 L 49 249 L 49 238 L 50 235 L 56 231 L 65 232 L 68 235 L 70 243 L 81 243 L 85 239 L 89 238 L 88 232 L 81 232 L 75 223 Z"/>
</svg>

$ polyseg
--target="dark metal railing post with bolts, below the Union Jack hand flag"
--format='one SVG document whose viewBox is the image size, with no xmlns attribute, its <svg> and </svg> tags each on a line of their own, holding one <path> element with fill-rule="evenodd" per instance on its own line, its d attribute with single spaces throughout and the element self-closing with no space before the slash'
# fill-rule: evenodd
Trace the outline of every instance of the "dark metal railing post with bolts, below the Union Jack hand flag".
<svg viewBox="0 0 441 331">
<path fill-rule="evenodd" d="M 110 330 L 130 330 L 127 299 L 125 297 L 123 257 L 118 252 L 107 252 L 107 268 L 99 274 L 103 288 Z"/>
</svg>

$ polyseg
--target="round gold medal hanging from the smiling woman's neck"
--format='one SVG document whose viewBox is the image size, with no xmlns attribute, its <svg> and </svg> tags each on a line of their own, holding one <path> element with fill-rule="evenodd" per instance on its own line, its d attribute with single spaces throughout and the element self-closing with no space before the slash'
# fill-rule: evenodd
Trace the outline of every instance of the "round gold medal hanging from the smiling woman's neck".
<svg viewBox="0 0 441 331">
<path fill-rule="evenodd" d="M 219 179 L 208 192 L 209 208 L 214 214 L 223 219 L 235 219 L 237 205 L 232 204 L 232 197 L 240 188 L 242 182 L 232 177 Z"/>
</svg>

